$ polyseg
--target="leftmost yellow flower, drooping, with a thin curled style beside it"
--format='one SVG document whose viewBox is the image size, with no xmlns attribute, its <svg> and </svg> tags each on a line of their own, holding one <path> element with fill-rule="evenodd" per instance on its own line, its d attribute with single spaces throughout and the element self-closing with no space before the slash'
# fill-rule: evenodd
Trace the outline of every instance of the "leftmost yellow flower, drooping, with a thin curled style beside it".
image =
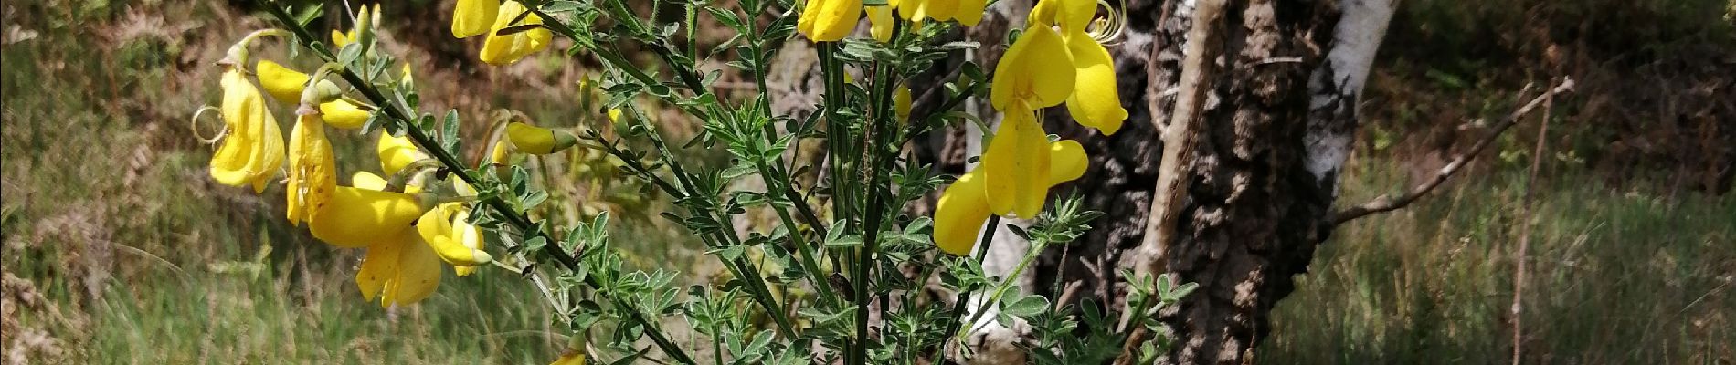
<svg viewBox="0 0 1736 365">
<path fill-rule="evenodd" d="M 229 135 L 212 156 L 210 175 L 224 185 L 253 185 L 253 192 L 264 192 L 283 164 L 283 131 L 266 111 L 266 97 L 247 81 L 240 67 L 224 71 L 220 85 L 219 111 Z"/>
</svg>

